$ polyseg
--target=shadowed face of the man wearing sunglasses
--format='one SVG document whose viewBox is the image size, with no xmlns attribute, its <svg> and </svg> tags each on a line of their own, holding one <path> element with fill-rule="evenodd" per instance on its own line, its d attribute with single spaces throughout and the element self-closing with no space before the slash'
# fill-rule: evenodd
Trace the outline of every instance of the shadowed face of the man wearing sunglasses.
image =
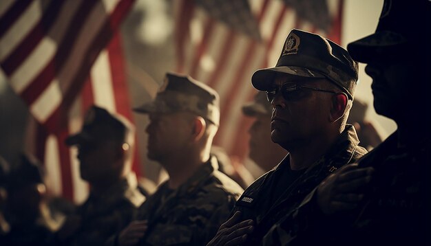
<svg viewBox="0 0 431 246">
<path fill-rule="evenodd" d="M 324 86 L 327 83 L 328 81 L 325 79 L 288 75 L 279 75 L 275 78 L 273 86 L 276 93 L 271 102 L 273 104 L 271 118 L 271 139 L 273 142 L 280 144 L 288 151 L 292 151 L 299 146 L 308 144 L 326 131 L 333 93 L 297 89 L 288 93 L 288 98 L 285 98 L 280 90 L 295 84 L 325 89 Z"/>
</svg>

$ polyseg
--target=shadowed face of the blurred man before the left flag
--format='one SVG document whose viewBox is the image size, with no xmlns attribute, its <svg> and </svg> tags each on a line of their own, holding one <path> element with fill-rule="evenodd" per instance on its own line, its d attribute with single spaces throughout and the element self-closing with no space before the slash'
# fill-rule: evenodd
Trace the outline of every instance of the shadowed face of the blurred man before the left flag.
<svg viewBox="0 0 431 246">
<path fill-rule="evenodd" d="M 86 181 L 98 181 L 113 172 L 120 157 L 120 144 L 114 141 L 87 142 L 78 146 L 79 170 Z"/>
</svg>

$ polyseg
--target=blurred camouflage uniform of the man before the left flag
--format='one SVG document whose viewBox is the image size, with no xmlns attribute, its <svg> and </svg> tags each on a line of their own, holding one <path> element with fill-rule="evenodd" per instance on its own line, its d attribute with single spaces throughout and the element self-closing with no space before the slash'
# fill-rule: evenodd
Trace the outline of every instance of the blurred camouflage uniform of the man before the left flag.
<svg viewBox="0 0 431 246">
<path fill-rule="evenodd" d="M 103 245 L 132 222 L 144 201 L 134 174 L 114 184 L 104 194 L 90 193 L 76 213 L 82 218 L 81 227 L 67 244 Z"/>
</svg>

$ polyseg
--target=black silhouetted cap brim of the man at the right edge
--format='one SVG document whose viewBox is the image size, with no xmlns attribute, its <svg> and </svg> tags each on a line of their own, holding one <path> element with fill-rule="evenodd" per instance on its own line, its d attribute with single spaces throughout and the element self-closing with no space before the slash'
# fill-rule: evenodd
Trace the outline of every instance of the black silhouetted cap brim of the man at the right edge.
<svg viewBox="0 0 431 246">
<path fill-rule="evenodd" d="M 347 50 L 353 60 L 367 63 L 370 60 L 378 59 L 380 56 L 390 58 L 393 54 L 399 54 L 399 51 L 403 50 L 400 46 L 406 43 L 407 39 L 401 34 L 381 31 L 349 43 Z"/>
</svg>

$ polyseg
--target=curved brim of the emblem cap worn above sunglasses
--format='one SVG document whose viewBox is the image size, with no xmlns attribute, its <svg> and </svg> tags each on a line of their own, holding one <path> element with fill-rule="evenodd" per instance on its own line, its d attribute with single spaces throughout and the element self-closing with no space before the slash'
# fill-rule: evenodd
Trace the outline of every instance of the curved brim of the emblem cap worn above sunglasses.
<svg viewBox="0 0 431 246">
<path fill-rule="evenodd" d="M 251 76 L 251 84 L 260 91 L 266 91 L 266 89 L 271 87 L 276 74 L 290 74 L 305 78 L 326 78 L 324 75 L 305 67 L 271 67 L 255 71 L 253 76 Z"/>
</svg>

